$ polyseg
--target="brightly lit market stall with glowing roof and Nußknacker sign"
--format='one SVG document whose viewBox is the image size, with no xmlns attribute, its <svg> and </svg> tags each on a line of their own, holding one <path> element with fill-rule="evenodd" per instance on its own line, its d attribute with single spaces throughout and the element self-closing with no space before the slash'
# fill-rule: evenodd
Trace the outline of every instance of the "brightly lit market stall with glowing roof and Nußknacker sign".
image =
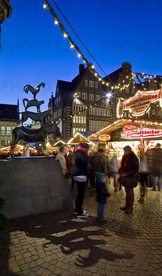
<svg viewBox="0 0 162 276">
<path fill-rule="evenodd" d="M 121 161 L 123 148 L 129 145 L 140 159 L 140 152 L 162 144 L 162 123 L 139 119 L 118 119 L 110 125 L 88 136 L 88 139 L 109 137 L 105 145 L 108 159 L 117 156 Z"/>
</svg>

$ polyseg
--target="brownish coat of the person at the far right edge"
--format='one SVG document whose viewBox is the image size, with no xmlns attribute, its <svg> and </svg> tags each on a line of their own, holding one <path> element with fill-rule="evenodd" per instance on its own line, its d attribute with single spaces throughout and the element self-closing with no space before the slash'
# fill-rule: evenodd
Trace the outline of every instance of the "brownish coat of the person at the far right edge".
<svg viewBox="0 0 162 276">
<path fill-rule="evenodd" d="M 162 149 L 154 147 L 145 153 L 148 162 L 148 173 L 162 172 Z"/>
</svg>

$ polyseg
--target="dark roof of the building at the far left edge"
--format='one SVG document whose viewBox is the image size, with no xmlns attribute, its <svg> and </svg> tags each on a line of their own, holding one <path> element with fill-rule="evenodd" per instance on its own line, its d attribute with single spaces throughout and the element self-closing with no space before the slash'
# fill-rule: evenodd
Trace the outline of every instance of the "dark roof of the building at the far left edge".
<svg viewBox="0 0 162 276">
<path fill-rule="evenodd" d="M 0 119 L 19 120 L 18 105 L 0 103 Z"/>
</svg>

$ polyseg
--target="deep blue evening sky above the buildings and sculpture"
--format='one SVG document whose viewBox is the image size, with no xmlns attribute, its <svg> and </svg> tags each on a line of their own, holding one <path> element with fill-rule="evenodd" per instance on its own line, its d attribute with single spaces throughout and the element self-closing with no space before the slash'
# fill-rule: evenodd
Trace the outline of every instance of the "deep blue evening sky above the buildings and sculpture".
<svg viewBox="0 0 162 276">
<path fill-rule="evenodd" d="M 70 49 L 48 9 L 43 9 L 43 0 L 10 3 L 12 16 L 2 24 L 0 102 L 17 104 L 19 97 L 20 111 L 24 111 L 23 98 L 33 97 L 31 92 L 23 91 L 24 86 L 35 87 L 45 82 L 45 88 L 37 95 L 38 100 L 45 101 L 41 106 L 44 111 L 51 93 L 55 95 L 57 80 L 71 81 L 83 62 Z M 53 1 L 49 3 L 85 58 L 96 65 Z M 162 74 L 161 1 L 56 0 L 56 3 L 106 74 L 120 68 L 124 61 L 132 64 L 133 72 Z M 95 69 L 105 76 L 97 65 Z"/>
</svg>

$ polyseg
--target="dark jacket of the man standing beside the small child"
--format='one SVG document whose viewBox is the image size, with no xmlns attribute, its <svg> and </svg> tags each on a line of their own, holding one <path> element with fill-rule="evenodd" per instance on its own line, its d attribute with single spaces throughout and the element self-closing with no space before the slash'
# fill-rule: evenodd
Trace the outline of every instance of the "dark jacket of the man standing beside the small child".
<svg viewBox="0 0 162 276">
<path fill-rule="evenodd" d="M 88 176 L 88 155 L 84 149 L 79 148 L 75 154 L 73 176 Z"/>
</svg>

